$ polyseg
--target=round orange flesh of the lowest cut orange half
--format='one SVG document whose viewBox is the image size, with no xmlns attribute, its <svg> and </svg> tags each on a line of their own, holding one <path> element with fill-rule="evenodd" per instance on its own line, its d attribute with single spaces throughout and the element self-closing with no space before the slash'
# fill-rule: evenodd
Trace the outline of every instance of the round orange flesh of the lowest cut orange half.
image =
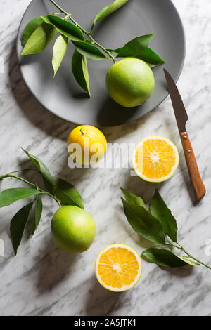
<svg viewBox="0 0 211 330">
<path fill-rule="evenodd" d="M 113 247 L 98 260 L 98 275 L 107 286 L 120 289 L 134 282 L 139 263 L 134 253 L 122 247 Z"/>
</svg>

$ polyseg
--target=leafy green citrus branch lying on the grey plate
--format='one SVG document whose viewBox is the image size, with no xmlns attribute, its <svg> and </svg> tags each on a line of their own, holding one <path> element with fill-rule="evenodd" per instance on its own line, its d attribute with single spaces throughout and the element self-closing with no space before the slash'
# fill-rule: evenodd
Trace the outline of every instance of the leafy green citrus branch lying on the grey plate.
<svg viewBox="0 0 211 330">
<path fill-rule="evenodd" d="M 136 37 L 121 48 L 116 49 L 108 49 L 92 37 L 91 34 L 94 31 L 96 23 L 114 11 L 117 11 L 118 8 L 126 4 L 129 0 L 115 0 L 109 6 L 104 7 L 94 18 L 90 32 L 79 25 L 72 18 L 71 13 L 61 8 L 55 1 L 49 1 L 58 8 L 60 13 L 41 15 L 28 22 L 21 39 L 21 44 L 24 46 L 22 55 L 36 54 L 44 51 L 56 34 L 60 33 L 53 46 L 52 66 L 54 77 L 65 57 L 68 43 L 71 41 L 75 47 L 75 52 L 72 56 L 72 73 L 79 86 L 88 93 L 89 97 L 91 93 L 87 58 L 91 58 L 92 60 L 110 59 L 113 62 L 115 62 L 116 58 L 139 58 L 147 62 L 150 67 L 155 67 L 165 62 L 148 47 L 155 34 Z M 63 14 L 65 16 L 61 17 Z"/>
</svg>

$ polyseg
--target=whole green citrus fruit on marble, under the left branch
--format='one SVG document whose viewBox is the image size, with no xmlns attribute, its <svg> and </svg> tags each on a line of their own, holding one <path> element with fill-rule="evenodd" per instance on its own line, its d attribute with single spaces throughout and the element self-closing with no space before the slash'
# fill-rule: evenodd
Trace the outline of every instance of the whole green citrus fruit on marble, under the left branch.
<svg viewBox="0 0 211 330">
<path fill-rule="evenodd" d="M 51 233 L 60 249 L 79 253 L 89 249 L 94 241 L 96 224 L 84 209 L 62 206 L 51 220 Z"/>
</svg>

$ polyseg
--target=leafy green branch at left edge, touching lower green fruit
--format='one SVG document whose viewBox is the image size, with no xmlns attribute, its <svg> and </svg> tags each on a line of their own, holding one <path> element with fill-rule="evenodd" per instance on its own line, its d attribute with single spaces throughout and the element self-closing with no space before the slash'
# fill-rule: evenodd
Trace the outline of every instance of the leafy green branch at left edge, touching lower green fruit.
<svg viewBox="0 0 211 330">
<path fill-rule="evenodd" d="M 41 213 L 43 209 L 42 197 L 44 195 L 53 198 L 57 202 L 59 207 L 63 205 L 73 205 L 84 209 L 82 197 L 73 185 L 71 185 L 65 180 L 51 176 L 49 169 L 47 169 L 46 165 L 39 158 L 33 156 L 26 150 L 23 151 L 25 152 L 25 154 L 27 154 L 27 157 L 29 157 L 32 163 L 34 164 L 35 166 L 34 169 L 23 169 L 20 171 L 13 171 L 5 174 L 4 176 L 0 176 L 0 180 L 4 180 L 5 178 L 9 178 L 9 180 L 11 180 L 15 178 L 23 181 L 24 183 L 27 183 L 27 185 L 30 185 L 29 188 L 18 187 L 18 188 L 11 188 L 1 191 L 0 208 L 11 205 L 20 199 L 27 199 L 28 197 L 34 197 L 32 202 L 23 206 L 15 214 L 15 216 L 13 216 L 11 220 L 10 230 L 11 230 L 11 238 L 12 238 L 13 249 L 15 251 L 15 254 L 17 253 L 18 246 L 20 245 L 23 234 L 25 232 L 25 228 L 27 227 L 27 223 L 33 205 L 34 205 L 34 216 L 33 216 L 34 225 L 32 229 L 32 235 L 34 235 L 35 230 L 37 230 L 37 227 L 41 220 Z M 22 171 L 37 171 L 39 174 L 41 174 L 48 191 L 39 188 L 37 183 L 31 183 L 30 181 L 25 180 L 25 178 L 16 175 L 16 173 Z"/>
</svg>

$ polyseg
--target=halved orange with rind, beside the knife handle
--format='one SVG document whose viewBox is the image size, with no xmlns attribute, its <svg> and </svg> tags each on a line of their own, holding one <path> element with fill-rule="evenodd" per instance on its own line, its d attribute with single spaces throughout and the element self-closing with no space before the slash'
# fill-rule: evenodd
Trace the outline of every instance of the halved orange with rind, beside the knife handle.
<svg viewBox="0 0 211 330">
<path fill-rule="evenodd" d="M 136 145 L 132 164 L 136 174 L 149 182 L 169 179 L 179 165 L 177 147 L 162 136 L 148 136 Z"/>
</svg>

